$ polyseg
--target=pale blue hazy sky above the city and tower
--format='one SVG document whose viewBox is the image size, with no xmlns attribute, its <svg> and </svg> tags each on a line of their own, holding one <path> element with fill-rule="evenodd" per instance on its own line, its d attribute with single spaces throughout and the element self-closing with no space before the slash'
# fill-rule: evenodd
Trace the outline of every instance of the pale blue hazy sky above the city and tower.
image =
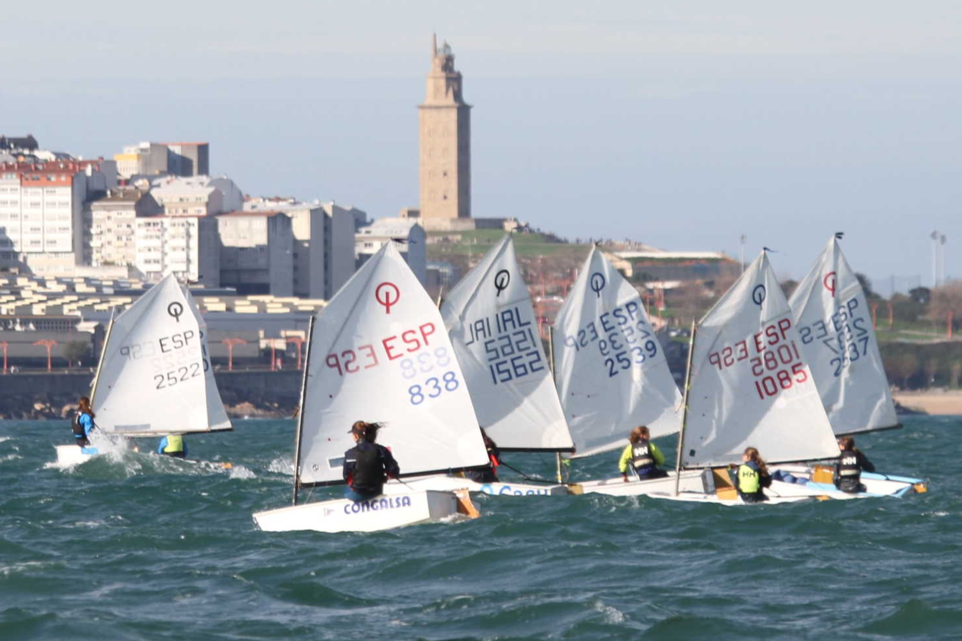
<svg viewBox="0 0 962 641">
<path fill-rule="evenodd" d="M 842 231 L 883 295 L 932 284 L 937 231 L 962 269 L 962 4 L 225 7 L 6 7 L 0 133 L 85 158 L 207 140 L 245 193 L 392 216 L 418 205 L 437 33 L 473 106 L 475 216 L 736 259 L 745 234 L 796 280 Z"/>
</svg>

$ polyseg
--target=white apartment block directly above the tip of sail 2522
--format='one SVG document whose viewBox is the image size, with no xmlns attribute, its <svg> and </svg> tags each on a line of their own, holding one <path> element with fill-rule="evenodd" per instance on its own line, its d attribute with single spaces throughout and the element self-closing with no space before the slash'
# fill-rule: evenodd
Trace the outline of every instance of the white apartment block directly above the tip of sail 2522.
<svg viewBox="0 0 962 641">
<path fill-rule="evenodd" d="M 149 282 L 173 273 L 181 281 L 220 284 L 220 248 L 214 216 L 139 216 L 137 268 Z"/>
</svg>

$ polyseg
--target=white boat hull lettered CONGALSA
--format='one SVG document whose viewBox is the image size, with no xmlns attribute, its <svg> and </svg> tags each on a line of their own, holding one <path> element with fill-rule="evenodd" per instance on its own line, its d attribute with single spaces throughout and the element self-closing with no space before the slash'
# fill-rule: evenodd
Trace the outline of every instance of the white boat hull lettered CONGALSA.
<svg viewBox="0 0 962 641">
<path fill-rule="evenodd" d="M 440 521 L 458 513 L 453 492 L 409 490 L 358 503 L 335 499 L 268 509 L 255 512 L 254 523 L 264 531 L 372 532 Z"/>
</svg>

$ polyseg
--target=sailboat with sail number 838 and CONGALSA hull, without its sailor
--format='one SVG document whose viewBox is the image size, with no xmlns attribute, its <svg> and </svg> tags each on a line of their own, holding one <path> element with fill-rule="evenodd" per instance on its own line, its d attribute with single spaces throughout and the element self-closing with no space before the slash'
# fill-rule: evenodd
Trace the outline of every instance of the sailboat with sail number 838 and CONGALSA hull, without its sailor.
<svg viewBox="0 0 962 641">
<path fill-rule="evenodd" d="M 477 514 L 467 492 L 413 487 L 358 503 L 297 503 L 302 488 L 344 482 L 358 420 L 386 426 L 378 441 L 404 479 L 488 463 L 441 314 L 392 242 L 312 319 L 300 407 L 293 505 L 255 513 L 261 530 L 388 530 Z"/>
</svg>

